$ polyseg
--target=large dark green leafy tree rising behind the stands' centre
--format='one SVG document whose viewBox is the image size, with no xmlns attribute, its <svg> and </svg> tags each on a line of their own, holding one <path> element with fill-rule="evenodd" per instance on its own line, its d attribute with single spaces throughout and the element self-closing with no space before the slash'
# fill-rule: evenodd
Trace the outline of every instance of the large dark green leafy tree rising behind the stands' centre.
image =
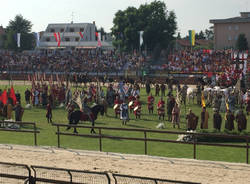
<svg viewBox="0 0 250 184">
<path fill-rule="evenodd" d="M 167 11 L 162 1 L 144 4 L 138 9 L 128 7 L 124 11 L 119 10 L 113 24 L 111 30 L 115 43 L 120 43 L 119 47 L 127 51 L 140 47 L 139 31 L 144 31 L 143 47 L 154 50 L 167 48 L 177 29 L 175 13 Z"/>
</svg>

